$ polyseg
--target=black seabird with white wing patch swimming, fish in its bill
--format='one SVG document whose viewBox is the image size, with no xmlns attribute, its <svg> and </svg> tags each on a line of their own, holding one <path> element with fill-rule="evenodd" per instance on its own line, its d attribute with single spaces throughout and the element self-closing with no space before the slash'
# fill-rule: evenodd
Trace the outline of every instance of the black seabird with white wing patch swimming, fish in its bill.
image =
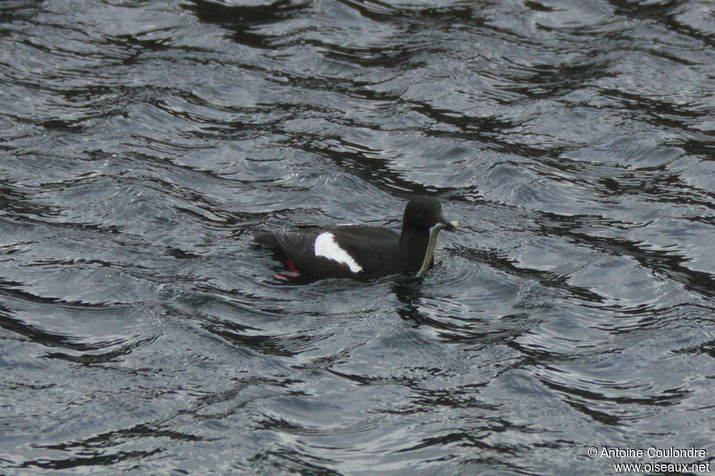
<svg viewBox="0 0 715 476">
<path fill-rule="evenodd" d="M 405 207 L 400 234 L 383 227 L 332 225 L 258 231 L 253 239 L 276 250 L 290 271 L 311 278 L 374 278 L 403 272 L 422 277 L 433 263 L 437 234 L 457 226 L 458 221 L 442 216 L 437 199 L 416 196 Z"/>
</svg>

